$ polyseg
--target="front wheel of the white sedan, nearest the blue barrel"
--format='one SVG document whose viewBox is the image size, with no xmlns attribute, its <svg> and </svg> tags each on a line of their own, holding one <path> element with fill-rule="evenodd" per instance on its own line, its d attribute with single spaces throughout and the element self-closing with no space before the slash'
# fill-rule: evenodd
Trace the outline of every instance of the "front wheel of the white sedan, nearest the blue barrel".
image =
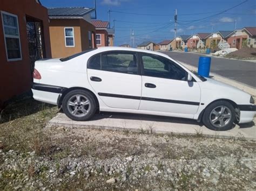
<svg viewBox="0 0 256 191">
<path fill-rule="evenodd" d="M 226 131 L 233 128 L 235 110 L 227 101 L 216 101 L 207 106 L 203 115 L 204 125 L 214 131 Z"/>
</svg>

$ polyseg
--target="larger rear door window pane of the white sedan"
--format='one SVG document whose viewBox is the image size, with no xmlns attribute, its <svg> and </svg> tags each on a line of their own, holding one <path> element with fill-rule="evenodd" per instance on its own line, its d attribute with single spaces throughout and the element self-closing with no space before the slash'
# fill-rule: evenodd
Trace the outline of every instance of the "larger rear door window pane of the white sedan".
<svg viewBox="0 0 256 191">
<path fill-rule="evenodd" d="M 103 53 L 102 70 L 138 74 L 136 53 L 118 51 Z"/>
</svg>

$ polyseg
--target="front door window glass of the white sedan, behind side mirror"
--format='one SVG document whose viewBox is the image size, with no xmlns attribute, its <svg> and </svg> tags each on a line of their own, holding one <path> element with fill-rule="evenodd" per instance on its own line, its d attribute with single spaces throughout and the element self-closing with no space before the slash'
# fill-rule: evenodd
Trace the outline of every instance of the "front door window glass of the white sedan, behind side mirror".
<svg viewBox="0 0 256 191">
<path fill-rule="evenodd" d="M 162 56 L 142 54 L 144 75 L 172 80 L 186 80 L 186 71 Z"/>
</svg>

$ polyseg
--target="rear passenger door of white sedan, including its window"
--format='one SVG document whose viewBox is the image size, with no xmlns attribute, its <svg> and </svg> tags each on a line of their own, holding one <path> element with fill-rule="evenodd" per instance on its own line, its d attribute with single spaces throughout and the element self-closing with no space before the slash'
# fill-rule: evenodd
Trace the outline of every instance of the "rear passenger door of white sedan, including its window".
<svg viewBox="0 0 256 191">
<path fill-rule="evenodd" d="M 136 52 L 107 51 L 89 59 L 89 83 L 107 107 L 139 108 L 142 76 L 137 57 Z"/>
</svg>

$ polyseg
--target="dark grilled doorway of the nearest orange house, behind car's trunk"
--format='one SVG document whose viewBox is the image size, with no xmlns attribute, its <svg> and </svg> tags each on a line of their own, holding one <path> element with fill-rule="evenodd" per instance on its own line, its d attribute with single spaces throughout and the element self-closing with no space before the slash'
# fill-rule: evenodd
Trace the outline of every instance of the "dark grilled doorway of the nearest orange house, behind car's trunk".
<svg viewBox="0 0 256 191">
<path fill-rule="evenodd" d="M 31 73 L 33 73 L 35 61 L 45 58 L 42 21 L 32 17 L 26 17 L 26 34 L 29 44 L 30 68 Z"/>
</svg>

